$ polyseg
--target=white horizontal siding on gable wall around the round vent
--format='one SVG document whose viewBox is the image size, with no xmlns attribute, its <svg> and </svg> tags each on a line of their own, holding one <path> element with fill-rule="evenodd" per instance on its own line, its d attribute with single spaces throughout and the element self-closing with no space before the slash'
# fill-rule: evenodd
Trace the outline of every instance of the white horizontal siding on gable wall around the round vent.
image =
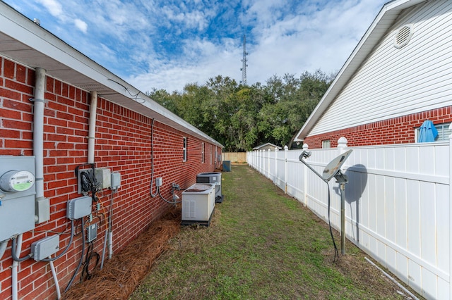
<svg viewBox="0 0 452 300">
<path fill-rule="evenodd" d="M 399 27 L 412 24 L 396 49 Z M 428 1 L 403 13 L 309 136 L 452 105 L 452 1 Z"/>
</svg>

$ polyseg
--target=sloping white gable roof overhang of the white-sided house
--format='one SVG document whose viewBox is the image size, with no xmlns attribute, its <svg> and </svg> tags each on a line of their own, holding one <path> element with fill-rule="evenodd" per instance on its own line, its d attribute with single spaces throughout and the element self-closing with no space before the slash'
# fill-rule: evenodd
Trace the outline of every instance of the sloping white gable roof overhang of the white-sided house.
<svg viewBox="0 0 452 300">
<path fill-rule="evenodd" d="M 301 142 L 309 135 L 312 127 L 316 124 L 321 115 L 328 109 L 328 106 L 338 96 L 340 91 L 347 85 L 358 68 L 364 63 L 371 51 L 377 46 L 380 40 L 386 35 L 388 29 L 395 23 L 400 13 L 406 8 L 410 8 L 428 0 L 394 0 L 386 3 L 376 16 L 369 29 L 359 41 L 350 57 L 340 69 L 338 75 L 331 83 L 330 87 L 317 104 L 314 111 L 304 123 L 301 130 L 296 135 L 295 142 Z"/>
</svg>

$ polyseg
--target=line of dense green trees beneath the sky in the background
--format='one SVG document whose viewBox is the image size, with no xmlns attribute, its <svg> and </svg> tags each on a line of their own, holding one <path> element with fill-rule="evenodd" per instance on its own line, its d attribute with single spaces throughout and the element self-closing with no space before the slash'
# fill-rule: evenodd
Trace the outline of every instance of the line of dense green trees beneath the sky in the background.
<svg viewBox="0 0 452 300">
<path fill-rule="evenodd" d="M 274 75 L 247 86 L 221 75 L 182 92 L 153 89 L 148 96 L 225 146 L 249 151 L 270 142 L 292 147 L 295 135 L 325 94 L 333 75 L 321 70 L 299 77 Z"/>
</svg>

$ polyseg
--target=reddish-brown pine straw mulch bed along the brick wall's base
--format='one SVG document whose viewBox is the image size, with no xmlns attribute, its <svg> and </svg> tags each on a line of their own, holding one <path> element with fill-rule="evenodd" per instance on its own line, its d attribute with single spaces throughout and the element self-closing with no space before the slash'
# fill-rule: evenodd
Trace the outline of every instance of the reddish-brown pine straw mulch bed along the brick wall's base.
<svg viewBox="0 0 452 300">
<path fill-rule="evenodd" d="M 180 230 L 180 217 L 180 206 L 171 208 L 107 261 L 93 278 L 71 287 L 63 299 L 128 299 L 148 274 L 154 261 L 169 248 L 168 240 Z"/>
</svg>

